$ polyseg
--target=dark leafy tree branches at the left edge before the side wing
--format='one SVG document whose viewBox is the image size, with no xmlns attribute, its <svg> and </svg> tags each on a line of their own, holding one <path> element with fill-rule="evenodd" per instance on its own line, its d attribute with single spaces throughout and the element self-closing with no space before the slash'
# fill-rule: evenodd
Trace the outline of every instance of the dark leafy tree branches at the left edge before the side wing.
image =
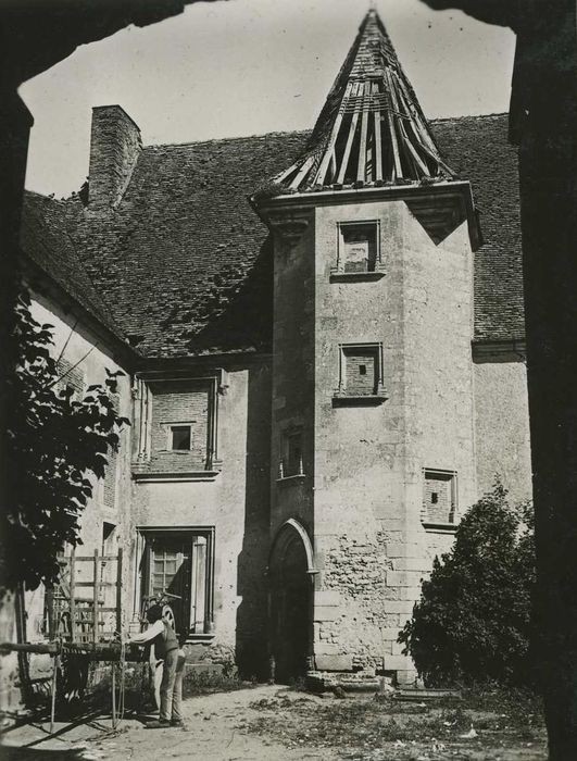
<svg viewBox="0 0 577 761">
<path fill-rule="evenodd" d="M 89 476 L 104 476 L 109 449 L 128 421 L 117 415 L 111 394 L 116 376 L 89 386 L 81 400 L 59 389 L 51 357 L 52 326 L 38 324 L 23 291 L 16 304 L 20 357 L 9 376 L 5 467 L 9 504 L 0 517 L 3 550 L 1 584 L 35 589 L 58 578 L 57 558 L 65 542 L 79 544 L 78 520 L 92 496 Z"/>
</svg>

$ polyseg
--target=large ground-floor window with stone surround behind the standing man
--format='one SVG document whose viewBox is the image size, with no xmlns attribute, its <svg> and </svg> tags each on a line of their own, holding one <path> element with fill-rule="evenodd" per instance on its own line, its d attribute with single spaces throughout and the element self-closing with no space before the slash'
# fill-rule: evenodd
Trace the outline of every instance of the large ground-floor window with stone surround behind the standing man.
<svg viewBox="0 0 577 761">
<path fill-rule="evenodd" d="M 214 528 L 140 529 L 140 589 L 143 597 L 167 592 L 179 634 L 213 631 Z"/>
</svg>

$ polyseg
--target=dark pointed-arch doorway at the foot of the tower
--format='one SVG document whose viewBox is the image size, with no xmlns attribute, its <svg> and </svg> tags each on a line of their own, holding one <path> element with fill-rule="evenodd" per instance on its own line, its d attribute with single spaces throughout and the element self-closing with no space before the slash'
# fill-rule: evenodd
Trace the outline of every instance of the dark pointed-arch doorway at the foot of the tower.
<svg viewBox="0 0 577 761">
<path fill-rule="evenodd" d="M 312 546 L 293 519 L 276 535 L 268 571 L 271 654 L 276 682 L 288 684 L 306 673 L 312 647 Z"/>
</svg>

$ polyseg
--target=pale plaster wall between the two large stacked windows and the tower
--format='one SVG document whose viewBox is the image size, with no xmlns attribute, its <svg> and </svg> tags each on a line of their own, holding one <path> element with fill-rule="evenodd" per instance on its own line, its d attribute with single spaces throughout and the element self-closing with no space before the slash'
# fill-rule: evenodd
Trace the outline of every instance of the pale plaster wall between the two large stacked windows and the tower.
<svg viewBox="0 0 577 761">
<path fill-rule="evenodd" d="M 264 650 L 271 397 L 266 363 L 226 370 L 228 388 L 218 398 L 221 472 L 190 481 L 138 481 L 134 515 L 138 527 L 214 527 L 210 646 L 213 652 L 234 657 L 237 644 L 244 652 L 251 647 L 253 652 Z M 238 622 L 242 643 L 237 641 Z M 210 657 L 210 652 L 197 648 L 191 656 Z"/>
</svg>

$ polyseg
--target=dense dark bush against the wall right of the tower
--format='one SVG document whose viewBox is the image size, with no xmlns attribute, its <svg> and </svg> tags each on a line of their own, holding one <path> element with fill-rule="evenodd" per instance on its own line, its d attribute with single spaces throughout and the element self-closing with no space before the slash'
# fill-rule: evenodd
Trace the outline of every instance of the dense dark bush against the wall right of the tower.
<svg viewBox="0 0 577 761">
<path fill-rule="evenodd" d="M 531 684 L 532 512 L 511 507 L 497 483 L 435 558 L 413 617 L 399 634 L 425 683 Z"/>
</svg>

